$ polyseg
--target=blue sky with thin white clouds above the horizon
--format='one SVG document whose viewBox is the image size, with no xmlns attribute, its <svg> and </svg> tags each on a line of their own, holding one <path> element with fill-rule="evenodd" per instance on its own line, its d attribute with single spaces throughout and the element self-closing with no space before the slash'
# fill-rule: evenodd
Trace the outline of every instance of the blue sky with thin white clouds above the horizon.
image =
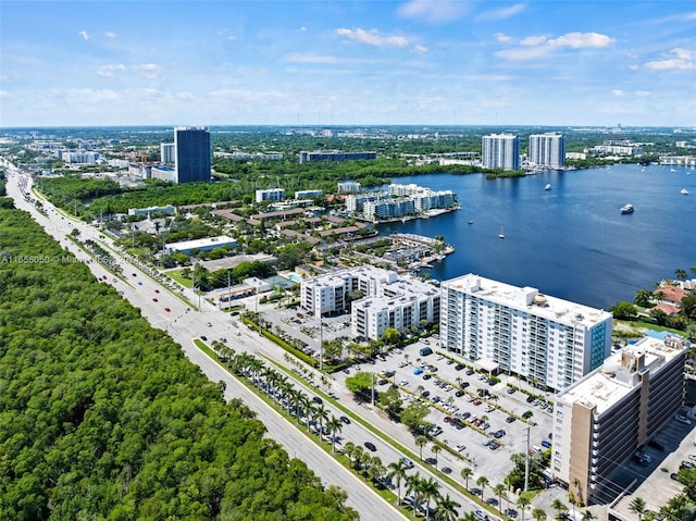
<svg viewBox="0 0 696 521">
<path fill-rule="evenodd" d="M 0 126 L 696 126 L 693 1 L 0 0 Z"/>
</svg>

